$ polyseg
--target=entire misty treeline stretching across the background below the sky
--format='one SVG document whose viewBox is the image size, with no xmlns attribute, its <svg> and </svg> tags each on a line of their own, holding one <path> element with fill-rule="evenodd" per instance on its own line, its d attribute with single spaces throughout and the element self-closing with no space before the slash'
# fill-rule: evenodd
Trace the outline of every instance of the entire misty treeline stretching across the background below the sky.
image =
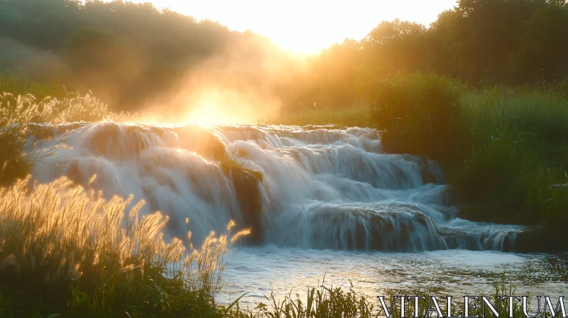
<svg viewBox="0 0 568 318">
<path fill-rule="evenodd" d="M 347 107 L 360 102 L 361 72 L 383 77 L 400 70 L 436 72 L 474 87 L 562 82 L 568 6 L 459 0 L 431 26 L 384 21 L 363 40 L 298 60 L 254 33 L 151 4 L 0 1 L 0 72 L 57 76 L 69 89 L 92 90 L 114 111 L 204 82 L 253 87 L 284 110 Z M 188 84 L 192 73 L 200 76 Z"/>
</svg>

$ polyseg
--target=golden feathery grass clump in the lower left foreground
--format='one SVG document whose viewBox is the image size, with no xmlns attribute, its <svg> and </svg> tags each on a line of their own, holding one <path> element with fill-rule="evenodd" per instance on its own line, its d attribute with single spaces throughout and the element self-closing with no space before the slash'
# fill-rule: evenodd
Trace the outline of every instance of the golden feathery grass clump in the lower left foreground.
<svg viewBox="0 0 568 318">
<path fill-rule="evenodd" d="M 29 180 L 0 190 L 0 290 L 13 317 L 190 317 L 222 315 L 227 246 L 243 235 L 212 232 L 200 248 L 167 243 L 160 212 L 110 200 L 62 177 L 30 190 Z M 193 317 L 193 316 L 192 316 Z"/>
</svg>

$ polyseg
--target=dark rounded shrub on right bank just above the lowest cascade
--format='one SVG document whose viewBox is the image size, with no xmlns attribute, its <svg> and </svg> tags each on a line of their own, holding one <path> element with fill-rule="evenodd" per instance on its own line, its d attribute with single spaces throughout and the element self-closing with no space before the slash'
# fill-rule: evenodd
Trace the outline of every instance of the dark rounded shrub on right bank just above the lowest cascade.
<svg viewBox="0 0 568 318">
<path fill-rule="evenodd" d="M 535 224 L 538 207 L 530 192 L 540 166 L 531 150 L 496 141 L 469 149 L 448 179 L 454 199 L 467 204 L 461 217 L 474 221 Z M 536 216 L 536 217 L 535 217 Z"/>
</svg>

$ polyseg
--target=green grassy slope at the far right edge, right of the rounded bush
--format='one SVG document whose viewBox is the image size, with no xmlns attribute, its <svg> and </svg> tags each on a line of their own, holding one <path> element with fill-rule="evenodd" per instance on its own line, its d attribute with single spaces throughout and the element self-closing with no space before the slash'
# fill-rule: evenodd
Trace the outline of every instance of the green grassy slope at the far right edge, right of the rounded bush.
<svg viewBox="0 0 568 318">
<path fill-rule="evenodd" d="M 474 209 L 481 215 L 468 216 L 565 231 L 568 99 L 546 90 L 493 87 L 467 92 L 462 100 L 468 149 L 449 180 L 458 202 L 484 205 Z"/>
</svg>

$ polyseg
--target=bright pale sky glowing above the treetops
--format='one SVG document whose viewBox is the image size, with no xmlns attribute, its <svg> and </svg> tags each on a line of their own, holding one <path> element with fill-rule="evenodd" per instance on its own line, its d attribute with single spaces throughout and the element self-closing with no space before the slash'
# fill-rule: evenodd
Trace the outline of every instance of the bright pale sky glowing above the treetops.
<svg viewBox="0 0 568 318">
<path fill-rule="evenodd" d="M 134 0 L 147 2 L 148 0 Z M 151 0 L 197 20 L 210 18 L 233 30 L 252 29 L 282 48 L 317 53 L 344 38 L 359 40 L 384 20 L 426 25 L 456 0 Z"/>
</svg>

